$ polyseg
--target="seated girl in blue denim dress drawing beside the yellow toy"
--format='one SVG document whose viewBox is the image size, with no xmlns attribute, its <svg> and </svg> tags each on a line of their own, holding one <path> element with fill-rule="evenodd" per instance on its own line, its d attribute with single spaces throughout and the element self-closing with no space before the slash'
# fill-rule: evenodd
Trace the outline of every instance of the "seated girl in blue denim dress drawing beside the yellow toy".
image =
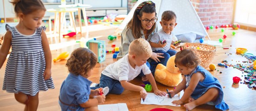
<svg viewBox="0 0 256 111">
<path fill-rule="evenodd" d="M 228 110 L 229 106 L 223 100 L 223 91 L 219 80 L 213 77 L 208 70 L 199 66 L 200 63 L 201 59 L 195 49 L 183 49 L 176 54 L 175 66 L 179 68 L 185 78 L 169 93 L 173 97 L 184 90 L 184 95 L 180 100 L 175 100 L 172 103 L 181 105 L 189 99 L 189 103 L 184 105 L 189 111 L 202 104 L 215 105 L 216 109 Z"/>
</svg>

